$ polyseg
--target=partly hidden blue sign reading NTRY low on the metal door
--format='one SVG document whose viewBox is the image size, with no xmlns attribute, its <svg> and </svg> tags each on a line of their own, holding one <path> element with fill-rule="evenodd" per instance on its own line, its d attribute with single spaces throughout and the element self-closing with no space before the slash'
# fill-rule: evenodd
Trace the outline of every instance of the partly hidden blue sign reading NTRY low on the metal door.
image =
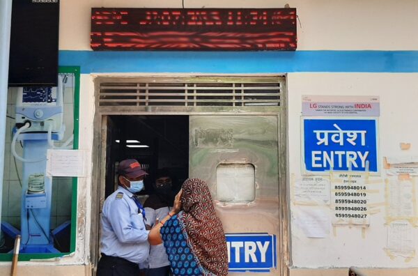
<svg viewBox="0 0 418 276">
<path fill-rule="evenodd" d="M 276 236 L 268 233 L 227 233 L 229 271 L 269 272 L 276 268 Z"/>
</svg>

